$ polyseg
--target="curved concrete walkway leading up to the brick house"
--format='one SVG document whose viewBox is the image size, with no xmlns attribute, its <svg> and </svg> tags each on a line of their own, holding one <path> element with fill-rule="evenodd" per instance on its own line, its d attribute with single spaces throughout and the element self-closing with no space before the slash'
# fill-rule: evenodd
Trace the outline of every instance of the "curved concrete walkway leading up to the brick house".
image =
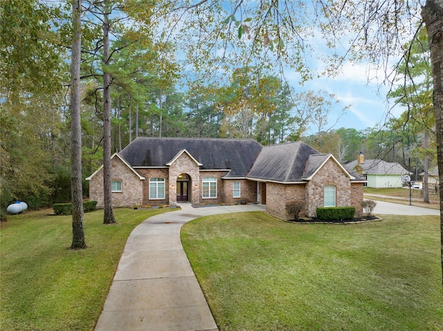
<svg viewBox="0 0 443 331">
<path fill-rule="evenodd" d="M 200 216 L 266 206 L 179 206 L 147 218 L 129 235 L 96 331 L 218 330 L 181 245 L 181 226 Z"/>
</svg>

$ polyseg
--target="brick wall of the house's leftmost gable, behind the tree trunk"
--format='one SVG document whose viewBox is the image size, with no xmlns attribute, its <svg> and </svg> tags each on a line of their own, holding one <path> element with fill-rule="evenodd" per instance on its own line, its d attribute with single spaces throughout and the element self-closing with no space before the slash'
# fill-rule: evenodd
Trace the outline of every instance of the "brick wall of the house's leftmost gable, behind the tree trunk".
<svg viewBox="0 0 443 331">
<path fill-rule="evenodd" d="M 111 181 L 122 182 L 122 191 L 112 193 L 112 205 L 114 207 L 133 207 L 143 205 L 143 184 L 146 180 L 141 180 L 134 171 L 129 169 L 118 157 L 111 160 Z M 97 207 L 103 205 L 103 169 L 100 169 L 96 176 L 89 182 L 89 199 L 97 201 Z"/>
</svg>

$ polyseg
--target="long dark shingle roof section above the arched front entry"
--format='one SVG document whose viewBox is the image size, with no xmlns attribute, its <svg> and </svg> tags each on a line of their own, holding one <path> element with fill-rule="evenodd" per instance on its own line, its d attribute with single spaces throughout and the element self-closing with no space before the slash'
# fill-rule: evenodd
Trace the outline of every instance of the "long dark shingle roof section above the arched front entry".
<svg viewBox="0 0 443 331">
<path fill-rule="evenodd" d="M 165 167 L 186 150 L 200 169 L 230 169 L 225 178 L 236 178 L 246 176 L 262 148 L 255 140 L 139 137 L 120 154 L 132 167 Z"/>
</svg>

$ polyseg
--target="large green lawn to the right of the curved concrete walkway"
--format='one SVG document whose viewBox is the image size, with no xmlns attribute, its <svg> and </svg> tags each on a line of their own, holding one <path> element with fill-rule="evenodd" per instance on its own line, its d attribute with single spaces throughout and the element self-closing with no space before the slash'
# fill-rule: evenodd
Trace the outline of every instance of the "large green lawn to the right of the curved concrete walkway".
<svg viewBox="0 0 443 331">
<path fill-rule="evenodd" d="M 443 330 L 437 216 L 354 225 L 224 214 L 182 241 L 219 330 Z"/>
</svg>

